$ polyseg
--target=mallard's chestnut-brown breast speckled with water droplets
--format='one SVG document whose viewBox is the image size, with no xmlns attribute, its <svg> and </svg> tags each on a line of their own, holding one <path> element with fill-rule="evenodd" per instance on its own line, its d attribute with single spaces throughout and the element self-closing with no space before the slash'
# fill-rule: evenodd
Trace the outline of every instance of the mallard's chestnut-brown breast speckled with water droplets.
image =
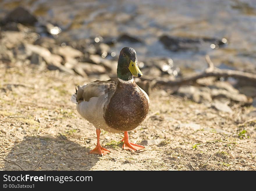
<svg viewBox="0 0 256 191">
<path fill-rule="evenodd" d="M 148 112 L 149 102 L 137 84 L 118 81 L 115 93 L 104 108 L 104 119 L 111 128 L 130 131 L 143 122 Z"/>
</svg>

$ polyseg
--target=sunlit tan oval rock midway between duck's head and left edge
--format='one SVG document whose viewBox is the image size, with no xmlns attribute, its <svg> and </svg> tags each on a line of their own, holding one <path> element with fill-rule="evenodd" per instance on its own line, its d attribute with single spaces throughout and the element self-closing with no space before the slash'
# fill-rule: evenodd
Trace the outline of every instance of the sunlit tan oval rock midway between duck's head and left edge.
<svg viewBox="0 0 256 191">
<path fill-rule="evenodd" d="M 70 46 L 56 47 L 53 49 L 53 53 L 61 55 L 63 57 L 79 58 L 83 56 L 83 53 L 77 49 Z"/>
</svg>

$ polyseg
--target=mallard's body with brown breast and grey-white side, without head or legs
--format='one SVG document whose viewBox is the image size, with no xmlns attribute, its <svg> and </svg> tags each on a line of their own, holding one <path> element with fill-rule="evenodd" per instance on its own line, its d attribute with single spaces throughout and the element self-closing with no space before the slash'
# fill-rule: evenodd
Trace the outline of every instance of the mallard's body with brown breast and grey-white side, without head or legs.
<svg viewBox="0 0 256 191">
<path fill-rule="evenodd" d="M 94 81 L 79 86 L 76 96 L 78 113 L 111 133 L 135 129 L 149 112 L 149 98 L 133 79 Z M 75 94 L 72 100 L 76 101 Z"/>
</svg>

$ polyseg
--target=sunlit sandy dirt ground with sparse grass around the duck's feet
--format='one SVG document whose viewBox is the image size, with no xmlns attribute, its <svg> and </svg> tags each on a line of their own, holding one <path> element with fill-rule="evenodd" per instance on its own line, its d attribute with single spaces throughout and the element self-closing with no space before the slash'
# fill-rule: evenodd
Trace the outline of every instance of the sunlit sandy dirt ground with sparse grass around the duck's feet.
<svg viewBox="0 0 256 191">
<path fill-rule="evenodd" d="M 100 157 L 89 154 L 95 128 L 70 102 L 76 85 L 96 78 L 18 65 L 0 64 L 1 170 L 255 170 L 251 106 L 233 103 L 227 114 L 153 89 L 149 116 L 129 132 L 132 142 L 153 144 L 125 151 L 122 133 L 102 131 L 111 153 Z"/>
</svg>

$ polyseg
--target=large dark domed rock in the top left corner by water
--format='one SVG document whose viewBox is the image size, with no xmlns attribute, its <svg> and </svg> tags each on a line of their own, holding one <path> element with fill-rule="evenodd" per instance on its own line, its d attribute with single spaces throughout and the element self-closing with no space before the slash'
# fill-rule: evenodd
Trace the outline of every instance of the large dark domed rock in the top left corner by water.
<svg viewBox="0 0 256 191">
<path fill-rule="evenodd" d="M 23 7 L 17 7 L 4 18 L 5 23 L 16 22 L 21 24 L 34 25 L 37 18 Z"/>
</svg>

